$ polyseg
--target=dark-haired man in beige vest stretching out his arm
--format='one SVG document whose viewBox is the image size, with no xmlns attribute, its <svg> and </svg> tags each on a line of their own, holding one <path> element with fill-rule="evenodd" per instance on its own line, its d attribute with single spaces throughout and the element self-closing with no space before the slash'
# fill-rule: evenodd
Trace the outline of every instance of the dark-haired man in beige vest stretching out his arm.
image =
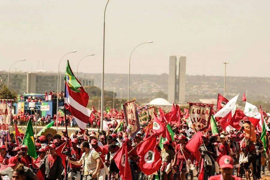
<svg viewBox="0 0 270 180">
<path fill-rule="evenodd" d="M 71 164 L 82 165 L 82 180 L 94 180 L 100 172 L 102 160 L 95 150 L 90 149 L 88 142 L 83 142 L 80 148 L 83 153 L 79 161 L 67 160 Z"/>
</svg>

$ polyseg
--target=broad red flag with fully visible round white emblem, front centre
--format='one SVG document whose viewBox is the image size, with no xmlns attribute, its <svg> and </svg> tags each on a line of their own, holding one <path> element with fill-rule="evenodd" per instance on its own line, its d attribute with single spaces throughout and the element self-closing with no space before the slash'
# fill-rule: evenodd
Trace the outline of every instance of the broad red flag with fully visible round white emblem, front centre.
<svg viewBox="0 0 270 180">
<path fill-rule="evenodd" d="M 140 157 L 140 169 L 146 175 L 151 175 L 161 167 L 161 156 L 156 148 L 156 136 L 152 135 L 138 144 L 137 154 Z"/>
</svg>

